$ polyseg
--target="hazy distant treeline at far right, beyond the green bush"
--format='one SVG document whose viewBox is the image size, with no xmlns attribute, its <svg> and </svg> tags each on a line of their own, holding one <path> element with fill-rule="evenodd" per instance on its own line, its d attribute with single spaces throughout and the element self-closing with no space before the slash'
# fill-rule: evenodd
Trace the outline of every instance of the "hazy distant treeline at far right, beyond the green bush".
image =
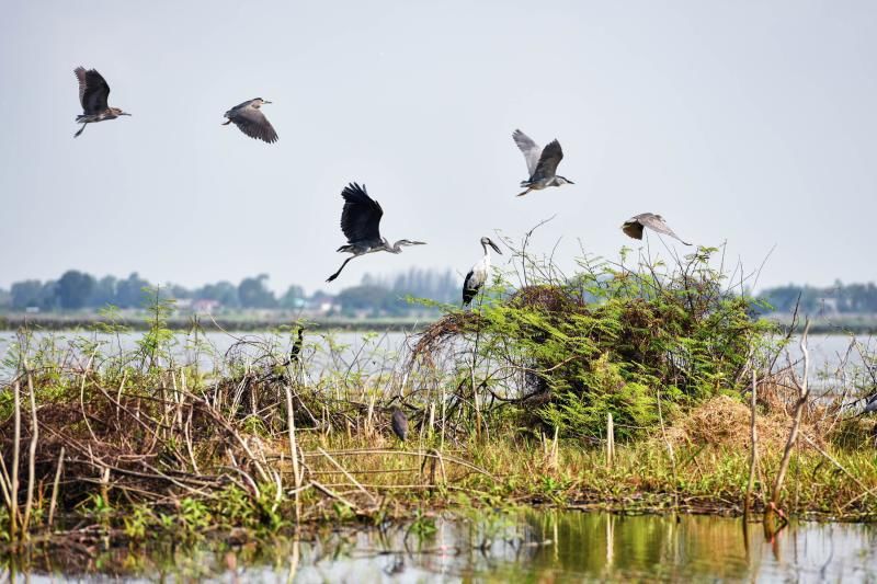
<svg viewBox="0 0 877 584">
<path fill-rule="evenodd" d="M 874 283 L 836 282 L 825 288 L 789 284 L 767 288 L 761 291 L 758 298 L 767 302 L 776 312 L 791 312 L 800 298 L 798 311 L 802 314 L 877 313 L 877 286 Z"/>
</svg>

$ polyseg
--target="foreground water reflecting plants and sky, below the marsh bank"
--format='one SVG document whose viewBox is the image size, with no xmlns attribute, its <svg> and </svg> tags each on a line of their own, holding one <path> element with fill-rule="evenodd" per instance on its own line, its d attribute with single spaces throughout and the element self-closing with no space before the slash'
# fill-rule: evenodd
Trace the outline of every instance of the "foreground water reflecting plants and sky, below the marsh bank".
<svg viewBox="0 0 877 584">
<path fill-rule="evenodd" d="M 428 533 L 431 531 L 431 533 Z M 877 529 L 793 523 L 773 542 L 739 518 L 532 509 L 430 529 L 334 529 L 303 541 L 104 552 L 83 565 L 35 558 L 32 582 L 875 582 Z M 55 562 L 55 563 L 52 563 Z M 21 579 L 24 580 L 23 577 Z"/>
</svg>

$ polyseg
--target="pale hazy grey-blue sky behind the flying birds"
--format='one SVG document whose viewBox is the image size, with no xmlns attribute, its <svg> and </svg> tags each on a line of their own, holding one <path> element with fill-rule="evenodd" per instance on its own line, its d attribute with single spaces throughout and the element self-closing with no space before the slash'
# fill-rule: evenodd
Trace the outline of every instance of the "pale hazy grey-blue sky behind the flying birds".
<svg viewBox="0 0 877 584">
<path fill-rule="evenodd" d="M 875 278 L 877 3 L 9 1 L 0 20 L 0 286 L 67 268 L 186 286 L 262 272 L 340 289 L 478 240 L 565 265 L 661 213 L 760 286 Z M 73 68 L 133 117 L 90 125 Z M 280 141 L 223 127 L 261 96 Z M 577 184 L 515 198 L 511 134 L 558 138 Z M 345 255 L 340 192 L 429 245 Z M 657 239 L 652 240 L 652 248 Z"/>
</svg>

